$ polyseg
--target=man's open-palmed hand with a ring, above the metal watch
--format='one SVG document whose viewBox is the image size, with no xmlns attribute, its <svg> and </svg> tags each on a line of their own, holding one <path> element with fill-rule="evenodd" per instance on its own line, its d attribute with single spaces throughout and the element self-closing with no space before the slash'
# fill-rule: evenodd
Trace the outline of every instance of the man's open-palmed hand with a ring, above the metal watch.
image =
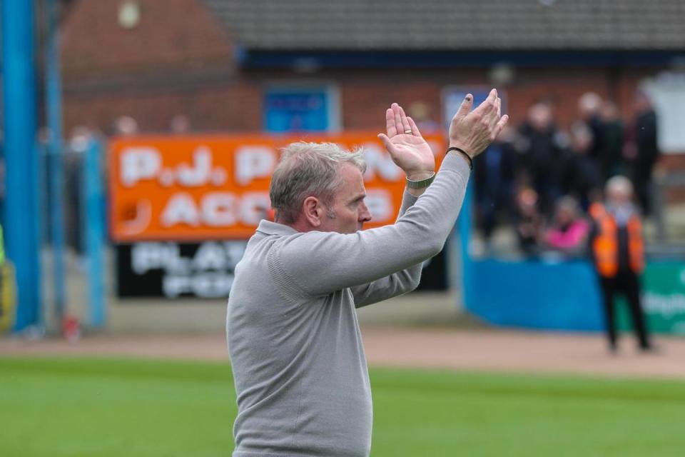
<svg viewBox="0 0 685 457">
<path fill-rule="evenodd" d="M 409 179 L 430 177 L 435 171 L 435 156 L 402 106 L 394 103 L 385 111 L 385 126 L 387 135 L 379 134 L 378 138 L 390 153 L 392 161 L 405 171 Z"/>
</svg>

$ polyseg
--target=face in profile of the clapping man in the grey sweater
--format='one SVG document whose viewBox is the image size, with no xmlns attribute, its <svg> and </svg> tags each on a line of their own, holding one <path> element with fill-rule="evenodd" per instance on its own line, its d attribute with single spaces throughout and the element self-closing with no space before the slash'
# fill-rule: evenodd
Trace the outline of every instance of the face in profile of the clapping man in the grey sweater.
<svg viewBox="0 0 685 457">
<path fill-rule="evenodd" d="M 319 230 L 355 233 L 362 229 L 365 222 L 371 220 L 371 213 L 364 203 L 364 176 L 360 169 L 348 163 L 342 164 L 340 174 L 342 185 L 329 208 L 333 210 L 335 217 L 324 216 Z"/>
</svg>

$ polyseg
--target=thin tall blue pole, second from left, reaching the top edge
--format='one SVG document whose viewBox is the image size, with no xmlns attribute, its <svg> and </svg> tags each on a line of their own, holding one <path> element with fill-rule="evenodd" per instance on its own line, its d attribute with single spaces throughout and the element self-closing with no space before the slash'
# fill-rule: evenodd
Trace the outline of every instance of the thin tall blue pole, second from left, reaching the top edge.
<svg viewBox="0 0 685 457">
<path fill-rule="evenodd" d="M 50 132 L 46 163 L 50 171 L 50 238 L 54 306 L 59 322 L 64 318 L 66 279 L 64 258 L 64 161 L 62 149 L 62 94 L 59 63 L 59 0 L 48 0 L 46 46 L 46 103 Z"/>
</svg>

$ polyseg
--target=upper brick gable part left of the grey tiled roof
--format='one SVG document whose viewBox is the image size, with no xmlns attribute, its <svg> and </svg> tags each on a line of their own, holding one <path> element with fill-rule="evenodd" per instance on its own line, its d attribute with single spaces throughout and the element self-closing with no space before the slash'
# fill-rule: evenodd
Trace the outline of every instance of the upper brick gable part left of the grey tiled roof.
<svg viewBox="0 0 685 457">
<path fill-rule="evenodd" d="M 159 71 L 231 68 L 230 37 L 201 0 L 138 0 L 140 22 L 118 24 L 121 1 L 79 0 L 64 21 L 62 67 L 68 83 Z"/>
</svg>

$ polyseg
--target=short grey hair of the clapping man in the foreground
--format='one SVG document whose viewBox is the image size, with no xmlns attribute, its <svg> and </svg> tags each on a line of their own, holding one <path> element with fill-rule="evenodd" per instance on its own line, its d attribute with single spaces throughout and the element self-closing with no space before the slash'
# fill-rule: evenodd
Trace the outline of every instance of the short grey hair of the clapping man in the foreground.
<svg viewBox="0 0 685 457">
<path fill-rule="evenodd" d="M 338 171 L 345 163 L 356 166 L 362 173 L 366 171 L 361 149 L 350 152 L 335 143 L 306 141 L 285 146 L 269 186 L 276 219 L 287 224 L 295 223 L 308 196 L 318 197 L 330 206 L 335 192 L 342 185 Z M 335 217 L 335 214 L 329 209 L 328 216 Z"/>
</svg>

